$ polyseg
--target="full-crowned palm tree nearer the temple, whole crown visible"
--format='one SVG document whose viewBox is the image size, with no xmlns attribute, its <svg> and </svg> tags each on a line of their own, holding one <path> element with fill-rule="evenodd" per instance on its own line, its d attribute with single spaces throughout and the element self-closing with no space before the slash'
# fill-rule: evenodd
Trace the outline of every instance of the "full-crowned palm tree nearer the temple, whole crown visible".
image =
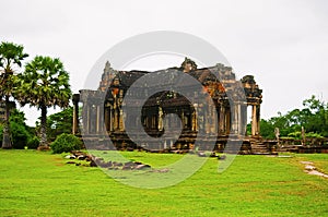
<svg viewBox="0 0 328 217">
<path fill-rule="evenodd" d="M 26 64 L 19 80 L 20 104 L 30 104 L 42 110 L 40 146 L 47 147 L 47 108 L 69 106 L 72 96 L 69 74 L 58 58 L 37 56 Z"/>
</svg>

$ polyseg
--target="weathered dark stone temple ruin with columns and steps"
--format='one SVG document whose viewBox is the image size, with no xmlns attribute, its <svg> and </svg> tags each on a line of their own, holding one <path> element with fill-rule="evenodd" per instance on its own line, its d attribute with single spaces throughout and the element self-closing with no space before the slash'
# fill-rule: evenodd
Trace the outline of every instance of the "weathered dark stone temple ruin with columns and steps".
<svg viewBox="0 0 328 217">
<path fill-rule="evenodd" d="M 260 137 L 262 89 L 259 88 L 254 76 L 246 75 L 237 81 L 231 67 L 218 63 L 214 67 L 198 69 L 197 64 L 188 58 L 179 68 L 160 70 L 155 73 L 169 74 L 174 71 L 192 76 L 202 85 L 202 92 L 196 91 L 188 82 L 181 82 L 184 88 L 188 91 L 188 96 L 173 91 L 162 91 L 148 96 L 147 91 L 152 87 L 152 84 L 144 83 L 143 86 L 139 86 L 139 91 L 129 93 L 133 101 L 128 105 L 127 112 L 122 109 L 122 104 L 128 89 L 138 79 L 152 75 L 152 72 L 116 71 L 107 61 L 98 88 L 96 91 L 81 89 L 80 94 L 73 96 L 73 133 L 83 134 L 84 141 L 93 141 L 95 146 L 101 145 L 104 148 L 108 142 L 104 140 L 104 135 L 108 135 L 117 148 L 189 150 L 195 148 L 194 143 L 197 138 L 202 144 L 199 148 L 203 149 L 214 148 L 220 152 L 224 149 L 229 140 L 235 140 L 242 142 L 241 152 L 244 154 L 270 152 L 270 144 L 265 144 Z M 172 73 L 171 76 L 168 83 L 169 80 L 176 82 L 177 77 Z M 210 99 L 204 93 L 210 96 Z M 244 100 L 241 100 L 238 95 L 243 95 Z M 144 96 L 148 96 L 148 99 L 140 105 Z M 187 99 L 190 96 L 212 100 L 213 104 L 191 104 Z M 234 97 L 236 99 L 231 100 Z M 81 117 L 79 117 L 79 106 L 82 106 Z M 129 113 L 134 107 L 140 106 L 142 107 L 141 113 Z M 210 108 L 211 106 L 214 108 Z M 251 107 L 250 135 L 246 135 L 247 107 Z M 216 111 L 215 114 L 210 113 L 213 109 Z M 176 116 L 167 116 L 169 113 Z M 168 118 L 166 122 L 165 117 Z M 165 129 L 173 132 L 176 130 L 180 134 L 177 140 L 165 137 L 163 143 L 142 140 L 136 142 L 127 135 L 125 128 L 127 124 L 137 137 L 140 132 L 138 124 L 142 124 L 144 132 L 154 138 L 160 138 Z M 208 147 L 209 144 L 214 144 L 214 147 Z"/>
</svg>

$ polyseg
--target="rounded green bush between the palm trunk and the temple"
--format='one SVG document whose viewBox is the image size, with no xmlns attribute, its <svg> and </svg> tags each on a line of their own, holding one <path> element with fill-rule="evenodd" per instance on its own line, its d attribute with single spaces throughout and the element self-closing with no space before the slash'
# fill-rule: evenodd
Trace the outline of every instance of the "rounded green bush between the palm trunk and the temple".
<svg viewBox="0 0 328 217">
<path fill-rule="evenodd" d="M 50 144 L 54 154 L 68 153 L 82 148 L 82 142 L 72 134 L 62 133 Z"/>
</svg>

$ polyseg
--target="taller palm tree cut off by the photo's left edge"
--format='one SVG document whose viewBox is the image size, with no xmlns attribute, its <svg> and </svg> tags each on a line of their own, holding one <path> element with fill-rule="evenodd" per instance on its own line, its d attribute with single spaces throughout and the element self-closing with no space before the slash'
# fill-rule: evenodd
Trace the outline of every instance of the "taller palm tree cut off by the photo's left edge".
<svg viewBox="0 0 328 217">
<path fill-rule="evenodd" d="M 0 100 L 4 99 L 5 114 L 3 124 L 3 140 L 2 148 L 11 148 L 10 140 L 10 97 L 13 96 L 14 91 L 14 67 L 22 67 L 22 61 L 27 53 L 24 53 L 24 47 L 21 45 L 15 45 L 13 43 L 1 43 L 0 44 Z"/>
</svg>

